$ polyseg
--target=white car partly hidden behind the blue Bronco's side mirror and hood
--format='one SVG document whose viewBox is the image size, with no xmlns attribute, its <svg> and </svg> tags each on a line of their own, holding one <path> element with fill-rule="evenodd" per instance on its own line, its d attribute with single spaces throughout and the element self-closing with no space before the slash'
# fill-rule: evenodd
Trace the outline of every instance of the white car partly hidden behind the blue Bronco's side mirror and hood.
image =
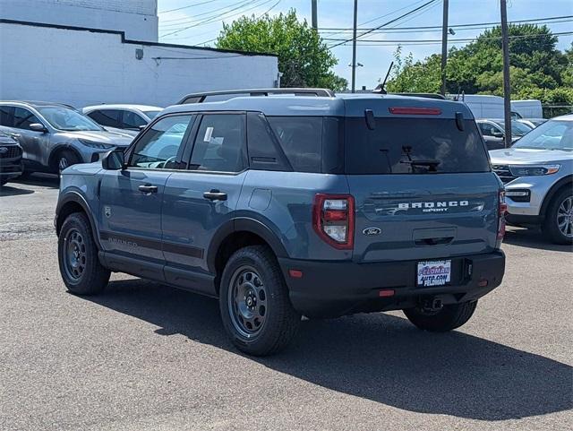
<svg viewBox="0 0 573 431">
<path fill-rule="evenodd" d="M 118 132 L 117 129 L 121 129 L 124 133 L 134 136 L 162 110 L 163 108 L 149 105 L 122 104 L 85 107 L 82 112 L 107 130 Z"/>
</svg>

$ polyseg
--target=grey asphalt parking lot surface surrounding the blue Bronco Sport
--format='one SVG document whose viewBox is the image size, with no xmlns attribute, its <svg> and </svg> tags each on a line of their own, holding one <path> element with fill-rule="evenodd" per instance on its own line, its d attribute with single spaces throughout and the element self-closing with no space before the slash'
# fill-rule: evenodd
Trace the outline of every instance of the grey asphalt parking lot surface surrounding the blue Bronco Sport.
<svg viewBox="0 0 573 431">
<path fill-rule="evenodd" d="M 456 332 L 400 313 L 305 321 L 249 358 L 215 300 L 115 274 L 66 293 L 53 178 L 0 192 L 2 430 L 560 430 L 573 427 L 573 253 L 510 229 L 500 288 Z"/>
</svg>

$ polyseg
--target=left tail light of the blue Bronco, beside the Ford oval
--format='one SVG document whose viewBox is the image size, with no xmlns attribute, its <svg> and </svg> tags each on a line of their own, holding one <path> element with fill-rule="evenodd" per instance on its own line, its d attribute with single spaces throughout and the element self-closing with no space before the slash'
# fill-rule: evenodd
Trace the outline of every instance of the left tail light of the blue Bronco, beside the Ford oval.
<svg viewBox="0 0 573 431">
<path fill-rule="evenodd" d="M 330 246 L 340 250 L 354 247 L 355 198 L 350 194 L 317 194 L 312 226 Z"/>
</svg>

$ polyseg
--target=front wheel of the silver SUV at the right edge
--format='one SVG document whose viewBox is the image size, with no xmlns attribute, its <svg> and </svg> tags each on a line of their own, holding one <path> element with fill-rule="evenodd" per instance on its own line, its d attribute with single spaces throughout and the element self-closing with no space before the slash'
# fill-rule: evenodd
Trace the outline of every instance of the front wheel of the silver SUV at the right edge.
<svg viewBox="0 0 573 431">
<path fill-rule="evenodd" d="M 545 212 L 543 234 L 555 244 L 573 244 L 573 186 L 567 185 L 552 199 Z"/>
</svg>

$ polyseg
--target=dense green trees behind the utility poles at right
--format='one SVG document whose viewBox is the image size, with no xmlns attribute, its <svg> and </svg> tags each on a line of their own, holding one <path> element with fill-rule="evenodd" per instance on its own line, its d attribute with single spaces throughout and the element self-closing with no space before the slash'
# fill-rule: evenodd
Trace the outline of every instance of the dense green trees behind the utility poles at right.
<svg viewBox="0 0 573 431">
<path fill-rule="evenodd" d="M 512 99 L 573 104 L 573 44 L 564 53 L 547 26 L 509 25 L 509 75 Z M 533 36 L 533 37 L 532 37 Z M 440 55 L 415 61 L 395 53 L 389 91 L 440 91 Z M 466 47 L 449 49 L 446 67 L 449 93 L 503 95 L 501 28 L 485 30 Z"/>
</svg>

